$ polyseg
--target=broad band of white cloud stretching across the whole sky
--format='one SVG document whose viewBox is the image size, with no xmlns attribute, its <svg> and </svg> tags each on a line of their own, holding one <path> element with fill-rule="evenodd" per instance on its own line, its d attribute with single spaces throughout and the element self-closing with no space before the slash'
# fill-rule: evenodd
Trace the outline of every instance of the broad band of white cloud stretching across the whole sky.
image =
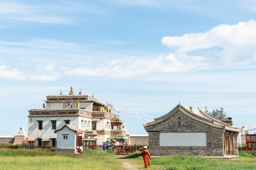
<svg viewBox="0 0 256 170">
<path fill-rule="evenodd" d="M 250 20 L 232 26 L 216 26 L 204 33 L 165 36 L 162 44 L 170 47 L 171 52 L 159 55 L 131 52 L 124 55 L 123 51 L 113 54 L 58 39 L 0 41 L 0 53 L 7 56 L 4 61 L 15 58 L 20 62 L 19 66 L 34 69 L 36 72 L 12 69 L 15 75 L 23 75 L 23 78 L 17 76 L 17 79 L 31 81 L 54 81 L 65 76 L 131 79 L 211 69 L 247 69 L 255 67 L 255 30 L 256 22 Z M 6 72 L 6 69 L 2 70 Z"/>
</svg>

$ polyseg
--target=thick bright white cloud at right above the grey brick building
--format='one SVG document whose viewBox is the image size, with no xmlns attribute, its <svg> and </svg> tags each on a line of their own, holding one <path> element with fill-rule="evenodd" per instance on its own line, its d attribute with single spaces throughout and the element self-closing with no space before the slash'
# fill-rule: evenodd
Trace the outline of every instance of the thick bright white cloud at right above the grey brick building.
<svg viewBox="0 0 256 170">
<path fill-rule="evenodd" d="M 217 47 L 216 57 L 227 66 L 249 64 L 256 61 L 256 22 L 240 22 L 236 25 L 220 25 L 205 33 L 165 36 L 162 44 L 176 49 L 177 55 L 190 55 L 197 50 L 210 50 Z M 202 53 L 203 57 L 208 57 Z"/>
</svg>

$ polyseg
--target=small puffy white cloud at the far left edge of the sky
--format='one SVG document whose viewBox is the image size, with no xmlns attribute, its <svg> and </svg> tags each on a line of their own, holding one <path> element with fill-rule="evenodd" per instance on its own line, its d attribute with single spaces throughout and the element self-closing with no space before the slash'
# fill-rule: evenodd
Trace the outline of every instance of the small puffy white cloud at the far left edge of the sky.
<svg viewBox="0 0 256 170">
<path fill-rule="evenodd" d="M 23 72 L 5 65 L 0 66 L 0 78 L 9 80 L 26 80 Z"/>
</svg>

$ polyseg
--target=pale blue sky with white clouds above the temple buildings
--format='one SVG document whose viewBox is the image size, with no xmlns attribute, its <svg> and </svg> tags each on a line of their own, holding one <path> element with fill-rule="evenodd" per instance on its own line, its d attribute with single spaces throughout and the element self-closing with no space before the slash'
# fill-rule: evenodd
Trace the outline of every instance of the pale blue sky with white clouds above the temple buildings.
<svg viewBox="0 0 256 170">
<path fill-rule="evenodd" d="M 255 124 L 255 30 L 250 0 L 0 1 L 0 135 L 71 85 L 155 117 L 181 102 Z"/>
</svg>

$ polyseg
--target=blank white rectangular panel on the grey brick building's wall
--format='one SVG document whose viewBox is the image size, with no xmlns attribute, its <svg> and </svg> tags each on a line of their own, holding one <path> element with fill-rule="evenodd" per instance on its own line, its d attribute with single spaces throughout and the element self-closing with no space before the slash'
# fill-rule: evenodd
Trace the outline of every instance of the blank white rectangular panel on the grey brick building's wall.
<svg viewBox="0 0 256 170">
<path fill-rule="evenodd" d="M 160 133 L 160 147 L 206 147 L 206 133 Z"/>
</svg>

